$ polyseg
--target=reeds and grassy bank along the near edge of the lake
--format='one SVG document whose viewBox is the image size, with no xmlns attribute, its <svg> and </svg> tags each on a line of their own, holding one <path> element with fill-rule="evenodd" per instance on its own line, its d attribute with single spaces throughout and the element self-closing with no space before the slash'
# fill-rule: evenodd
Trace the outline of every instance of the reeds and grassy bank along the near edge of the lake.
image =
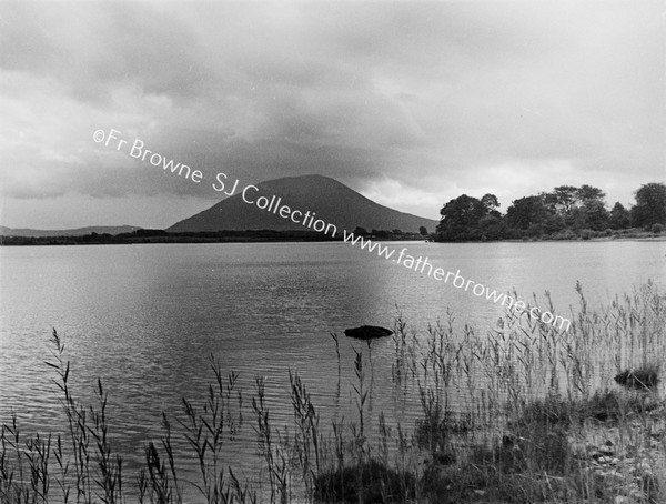
<svg viewBox="0 0 666 504">
<path fill-rule="evenodd" d="M 241 391 L 238 375 L 212 360 L 206 397 L 183 400 L 175 419 L 163 415 L 163 435 L 145 441 L 138 473 L 109 441 L 102 382 L 95 404 L 72 396 L 53 331 L 48 365 L 65 434 L 24 437 L 16 416 L 2 426 L 0 502 L 182 503 L 193 488 L 206 503 L 666 502 L 666 409 L 655 390 L 666 300 L 646 284 L 592 310 L 577 290 L 564 333 L 512 313 L 490 334 L 458 332 L 451 316 L 415 334 L 397 317 L 392 342 L 380 344 L 392 345 L 394 389 L 420 397 L 411 427 L 369 407 L 377 343 L 354 359 L 355 417 L 330 425 L 297 373 L 290 372 L 294 415 L 284 425 L 271 415 L 261 376 Z M 653 386 L 617 385 L 623 373 Z M 258 440 L 262 485 L 223 463 L 226 441 L 248 429 L 243 417 Z M 179 471 L 176 437 L 195 461 L 195 478 Z"/>
</svg>

